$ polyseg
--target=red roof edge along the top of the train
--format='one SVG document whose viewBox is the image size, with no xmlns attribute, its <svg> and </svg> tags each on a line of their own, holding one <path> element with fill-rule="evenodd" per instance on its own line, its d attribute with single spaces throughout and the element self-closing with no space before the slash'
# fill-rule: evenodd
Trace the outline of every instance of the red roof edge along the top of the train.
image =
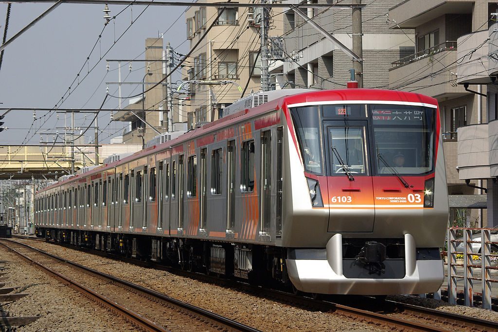
<svg viewBox="0 0 498 332">
<path fill-rule="evenodd" d="M 290 90 L 290 89 L 289 89 Z M 230 114 L 226 117 L 223 117 L 219 120 L 208 123 L 202 127 L 196 128 L 194 130 L 188 131 L 185 134 L 172 139 L 170 141 L 164 142 L 159 145 L 154 145 L 138 152 L 133 153 L 130 156 L 127 156 L 121 160 L 115 161 L 110 164 L 104 164 L 99 167 L 96 167 L 84 174 L 78 174 L 74 177 L 71 177 L 65 181 L 53 184 L 48 186 L 44 190 L 52 189 L 57 186 L 77 181 L 82 177 L 87 177 L 92 174 L 100 173 L 102 171 L 111 169 L 120 164 L 142 158 L 151 151 L 162 151 L 168 149 L 174 145 L 180 144 L 183 141 L 187 141 L 192 139 L 193 137 L 201 137 L 205 134 L 208 134 L 212 131 L 218 130 L 221 127 L 224 127 L 229 124 L 236 123 L 241 120 L 241 118 L 250 118 L 259 113 L 263 113 L 265 111 L 273 111 L 278 110 L 282 107 L 287 107 L 287 105 L 294 104 L 303 104 L 303 103 L 320 103 L 327 101 L 355 101 L 355 102 L 375 102 L 375 101 L 392 101 L 392 102 L 406 102 L 406 103 L 421 103 L 437 106 L 437 100 L 432 97 L 412 93 L 412 92 L 404 92 L 404 91 L 396 91 L 396 90 L 381 90 L 381 89 L 341 89 L 341 90 L 316 90 L 310 92 L 302 92 L 303 89 L 296 89 L 299 92 L 295 95 L 287 95 L 282 96 L 280 98 L 269 100 L 267 103 L 261 104 L 252 109 L 246 109 L 240 112 L 236 112 L 234 114 Z"/>
</svg>

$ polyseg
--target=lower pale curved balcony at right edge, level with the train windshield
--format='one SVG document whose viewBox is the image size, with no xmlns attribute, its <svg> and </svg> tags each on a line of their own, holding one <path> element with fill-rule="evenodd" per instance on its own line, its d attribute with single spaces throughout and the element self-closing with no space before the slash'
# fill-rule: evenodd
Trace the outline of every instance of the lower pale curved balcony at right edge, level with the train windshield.
<svg viewBox="0 0 498 332">
<path fill-rule="evenodd" d="M 491 177 L 489 143 L 488 123 L 458 128 L 457 165 L 460 180 Z"/>
</svg>

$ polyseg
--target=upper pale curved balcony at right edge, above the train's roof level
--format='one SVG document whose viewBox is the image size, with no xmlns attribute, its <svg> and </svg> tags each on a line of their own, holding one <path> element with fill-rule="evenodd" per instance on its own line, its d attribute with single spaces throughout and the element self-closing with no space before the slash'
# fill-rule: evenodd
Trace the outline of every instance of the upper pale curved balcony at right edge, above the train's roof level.
<svg viewBox="0 0 498 332">
<path fill-rule="evenodd" d="M 487 39 L 489 36 L 490 33 L 488 30 L 483 30 L 469 33 L 458 38 L 458 84 L 491 83 L 491 79 L 488 75 Z"/>
</svg>

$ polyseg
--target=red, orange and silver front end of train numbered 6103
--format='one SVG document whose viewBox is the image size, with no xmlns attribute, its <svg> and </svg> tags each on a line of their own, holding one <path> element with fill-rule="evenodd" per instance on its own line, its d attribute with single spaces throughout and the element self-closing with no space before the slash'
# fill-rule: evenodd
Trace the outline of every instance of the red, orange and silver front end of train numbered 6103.
<svg viewBox="0 0 498 332">
<path fill-rule="evenodd" d="M 282 245 L 293 285 L 322 294 L 436 291 L 448 221 L 436 100 L 348 89 L 285 103 Z"/>
</svg>

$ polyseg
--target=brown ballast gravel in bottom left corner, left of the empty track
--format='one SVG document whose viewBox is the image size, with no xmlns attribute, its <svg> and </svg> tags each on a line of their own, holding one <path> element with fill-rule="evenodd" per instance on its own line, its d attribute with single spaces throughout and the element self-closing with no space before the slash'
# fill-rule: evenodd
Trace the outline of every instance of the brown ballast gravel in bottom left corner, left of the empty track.
<svg viewBox="0 0 498 332">
<path fill-rule="evenodd" d="M 4 287 L 19 287 L 28 293 L 17 301 L 2 303 L 10 316 L 40 316 L 35 322 L 15 328 L 18 332 L 137 331 L 115 313 L 100 307 L 50 275 L 0 246 L 0 268 L 7 272 Z M 2 330 L 3 331 L 3 330 Z"/>
</svg>

